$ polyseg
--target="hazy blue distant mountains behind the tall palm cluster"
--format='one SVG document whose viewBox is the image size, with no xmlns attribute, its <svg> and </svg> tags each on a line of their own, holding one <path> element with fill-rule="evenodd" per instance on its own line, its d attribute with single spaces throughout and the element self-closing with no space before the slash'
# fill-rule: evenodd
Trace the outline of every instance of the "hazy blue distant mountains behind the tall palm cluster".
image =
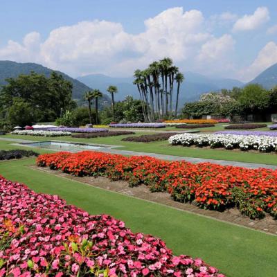
<svg viewBox="0 0 277 277">
<path fill-rule="evenodd" d="M 232 89 L 233 87 L 241 87 L 242 82 L 233 79 L 208 78 L 204 75 L 186 72 L 184 73 L 185 81 L 181 84 L 180 89 L 180 107 L 184 102 L 191 102 L 199 99 L 202 93 L 208 91 L 219 91 L 220 89 Z M 116 100 L 123 100 L 125 96 L 130 95 L 139 98 L 136 86 L 132 83 L 132 77 L 114 78 L 103 74 L 91 74 L 78 77 L 77 80 L 87 84 L 89 87 L 98 88 L 100 91 L 107 91 L 109 85 L 118 87 Z"/>
</svg>

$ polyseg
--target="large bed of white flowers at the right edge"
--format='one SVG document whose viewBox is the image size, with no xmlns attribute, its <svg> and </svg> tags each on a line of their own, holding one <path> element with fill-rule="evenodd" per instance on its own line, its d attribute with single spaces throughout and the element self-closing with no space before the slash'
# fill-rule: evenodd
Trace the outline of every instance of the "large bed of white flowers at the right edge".
<svg viewBox="0 0 277 277">
<path fill-rule="evenodd" d="M 172 145 L 210 146 L 211 148 L 226 148 L 240 150 L 259 150 L 260 152 L 277 152 L 277 137 L 273 136 L 242 136 L 234 134 L 176 134 L 170 136 L 168 142 Z"/>
</svg>

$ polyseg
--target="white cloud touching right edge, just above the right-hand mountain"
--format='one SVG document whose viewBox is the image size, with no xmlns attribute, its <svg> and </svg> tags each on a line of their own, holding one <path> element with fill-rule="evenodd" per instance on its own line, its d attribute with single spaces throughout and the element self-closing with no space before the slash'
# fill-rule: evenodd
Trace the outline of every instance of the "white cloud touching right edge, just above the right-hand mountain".
<svg viewBox="0 0 277 277">
<path fill-rule="evenodd" d="M 258 53 L 253 63 L 240 71 L 238 76 L 241 80 L 250 81 L 269 66 L 277 63 L 277 44 L 267 43 Z"/>
</svg>

